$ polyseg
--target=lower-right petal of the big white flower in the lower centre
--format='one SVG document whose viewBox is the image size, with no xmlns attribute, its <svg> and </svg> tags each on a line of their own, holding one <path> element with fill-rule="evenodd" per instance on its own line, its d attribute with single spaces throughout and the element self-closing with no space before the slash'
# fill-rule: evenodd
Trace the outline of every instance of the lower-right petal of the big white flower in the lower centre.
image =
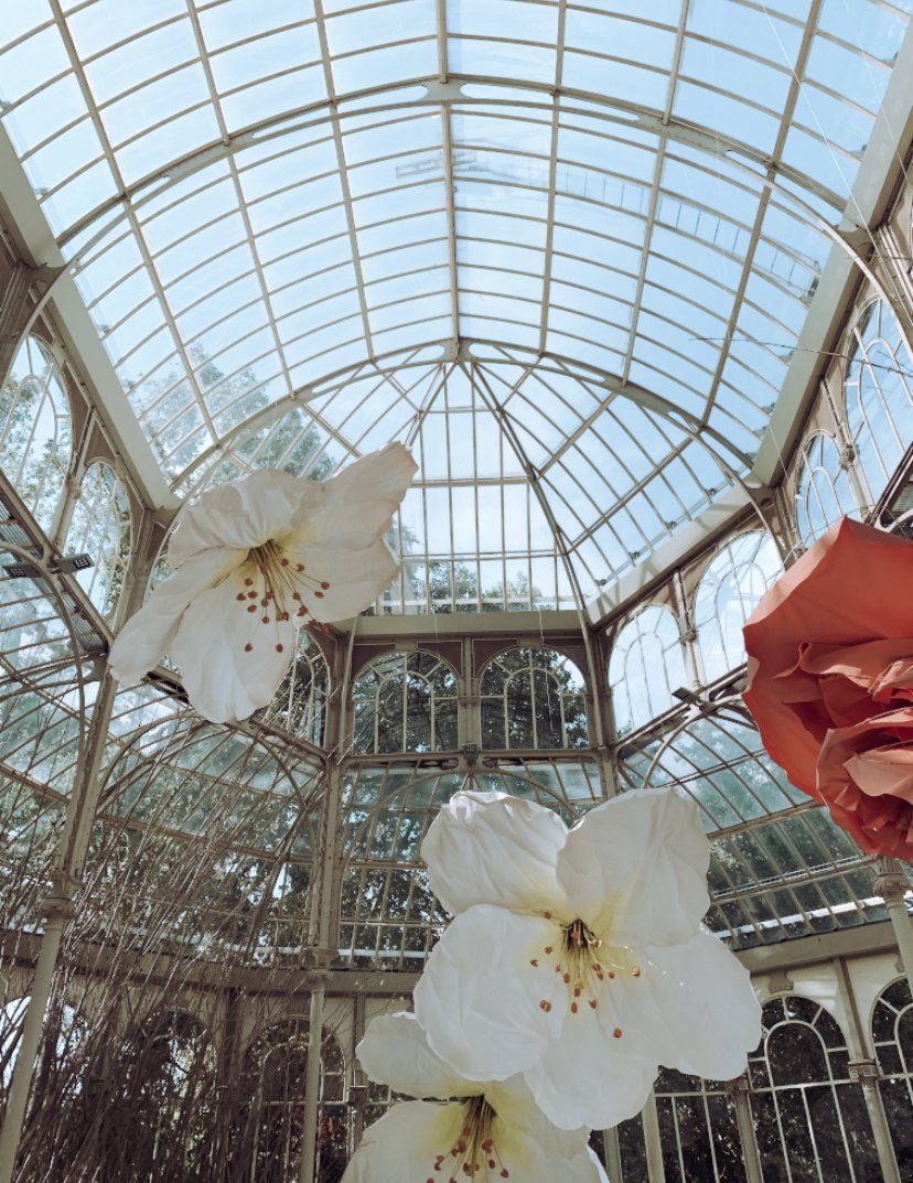
<svg viewBox="0 0 913 1183">
<path fill-rule="evenodd" d="M 655 1008 L 659 1062 L 695 1077 L 731 1080 L 760 1042 L 760 1003 L 747 970 L 710 932 L 643 950 L 640 982 Z"/>
</svg>

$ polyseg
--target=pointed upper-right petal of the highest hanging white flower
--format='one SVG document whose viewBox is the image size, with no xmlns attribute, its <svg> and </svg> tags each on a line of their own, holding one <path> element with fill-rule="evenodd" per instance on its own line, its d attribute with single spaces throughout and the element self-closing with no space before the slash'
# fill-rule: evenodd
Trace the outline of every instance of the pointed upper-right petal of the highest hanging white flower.
<svg viewBox="0 0 913 1183">
<path fill-rule="evenodd" d="M 286 545 L 368 547 L 386 534 L 417 465 L 402 444 L 388 444 L 323 483 L 324 510 L 296 529 Z"/>
</svg>

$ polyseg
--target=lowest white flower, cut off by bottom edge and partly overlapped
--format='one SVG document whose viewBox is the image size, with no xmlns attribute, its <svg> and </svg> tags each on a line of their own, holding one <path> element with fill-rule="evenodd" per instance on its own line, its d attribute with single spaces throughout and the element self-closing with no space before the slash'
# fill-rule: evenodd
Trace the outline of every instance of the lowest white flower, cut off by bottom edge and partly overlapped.
<svg viewBox="0 0 913 1183">
<path fill-rule="evenodd" d="M 357 1053 L 371 1080 L 423 1099 L 394 1105 L 365 1131 L 343 1183 L 607 1183 L 587 1130 L 546 1121 L 519 1077 L 464 1080 L 414 1015 L 375 1019 Z"/>
</svg>

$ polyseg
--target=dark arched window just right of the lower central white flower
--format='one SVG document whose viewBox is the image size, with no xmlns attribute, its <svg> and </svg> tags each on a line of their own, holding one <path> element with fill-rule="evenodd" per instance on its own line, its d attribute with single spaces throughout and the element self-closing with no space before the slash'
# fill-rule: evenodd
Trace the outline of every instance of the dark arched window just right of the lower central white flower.
<svg viewBox="0 0 913 1183">
<path fill-rule="evenodd" d="M 765 1179 L 868 1183 L 881 1178 L 862 1085 L 835 1020 L 810 998 L 773 998 L 749 1059 L 751 1108 Z"/>
</svg>

